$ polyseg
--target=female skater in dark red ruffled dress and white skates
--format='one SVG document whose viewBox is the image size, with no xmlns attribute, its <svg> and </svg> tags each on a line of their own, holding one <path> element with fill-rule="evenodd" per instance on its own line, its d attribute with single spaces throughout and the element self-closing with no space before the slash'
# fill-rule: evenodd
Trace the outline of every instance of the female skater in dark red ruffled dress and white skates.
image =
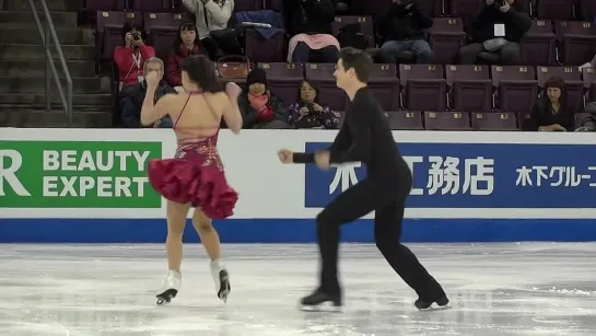
<svg viewBox="0 0 596 336">
<path fill-rule="evenodd" d="M 183 232 L 188 210 L 195 208 L 192 225 L 211 258 L 211 273 L 218 297 L 224 302 L 230 293 L 227 270 L 220 260 L 220 237 L 211 219 L 233 215 L 238 199 L 227 185 L 217 141 L 221 118 L 239 134 L 242 116 L 237 96 L 242 92 L 235 83 L 225 90 L 215 79 L 215 69 L 206 56 L 192 56 L 182 65 L 182 84 L 186 93 L 168 94 L 153 104 L 157 73 L 147 73 L 147 95 L 141 109 L 141 124 L 152 125 L 170 115 L 178 149 L 174 159 L 151 160 L 149 183 L 167 199 L 167 264 L 164 290 L 157 304 L 166 304 L 176 297 L 182 285 Z"/>
</svg>

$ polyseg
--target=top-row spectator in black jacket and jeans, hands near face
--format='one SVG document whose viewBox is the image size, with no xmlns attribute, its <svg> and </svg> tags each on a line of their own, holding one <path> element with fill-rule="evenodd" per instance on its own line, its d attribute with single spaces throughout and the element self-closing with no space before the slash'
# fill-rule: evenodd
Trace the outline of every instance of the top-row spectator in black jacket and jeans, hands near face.
<svg viewBox="0 0 596 336">
<path fill-rule="evenodd" d="M 433 51 L 424 39 L 424 30 L 433 25 L 433 19 L 418 8 L 418 0 L 392 2 L 379 25 L 385 40 L 381 46 L 383 61 L 395 65 L 399 53 L 411 51 L 417 63 L 431 63 Z"/>
</svg>

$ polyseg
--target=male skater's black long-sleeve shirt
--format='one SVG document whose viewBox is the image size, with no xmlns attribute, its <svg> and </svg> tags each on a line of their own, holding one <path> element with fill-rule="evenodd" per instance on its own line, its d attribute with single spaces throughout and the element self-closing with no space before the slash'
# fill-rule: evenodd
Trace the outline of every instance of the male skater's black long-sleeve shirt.
<svg viewBox="0 0 596 336">
<path fill-rule="evenodd" d="M 364 163 L 370 177 L 392 182 L 399 178 L 400 173 L 411 174 L 395 143 L 388 119 L 369 88 L 360 89 L 349 104 L 346 120 L 329 152 L 331 163 Z M 293 155 L 295 163 L 313 163 L 314 158 L 314 153 Z"/>
</svg>

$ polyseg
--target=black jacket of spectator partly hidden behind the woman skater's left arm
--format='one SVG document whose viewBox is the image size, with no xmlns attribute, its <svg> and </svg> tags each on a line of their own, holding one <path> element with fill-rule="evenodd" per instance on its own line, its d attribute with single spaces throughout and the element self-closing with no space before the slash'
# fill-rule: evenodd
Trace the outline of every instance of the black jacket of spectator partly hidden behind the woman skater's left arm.
<svg viewBox="0 0 596 336">
<path fill-rule="evenodd" d="M 141 125 L 141 108 L 143 107 L 143 101 L 147 93 L 147 84 L 142 82 L 137 86 L 128 90 L 120 100 L 120 111 L 122 126 L 126 128 L 140 128 Z M 162 96 L 168 93 L 176 93 L 172 86 L 170 86 L 164 80 L 160 82 L 160 86 L 155 91 L 155 100 L 157 102 Z M 172 120 L 170 117 L 162 119 L 160 127 L 172 127 Z"/>
</svg>

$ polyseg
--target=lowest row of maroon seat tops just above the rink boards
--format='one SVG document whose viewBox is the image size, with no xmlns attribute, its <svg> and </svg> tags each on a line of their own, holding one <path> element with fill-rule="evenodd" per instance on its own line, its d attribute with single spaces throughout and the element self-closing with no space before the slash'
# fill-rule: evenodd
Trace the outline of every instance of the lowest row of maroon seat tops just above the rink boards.
<svg viewBox="0 0 596 336">
<path fill-rule="evenodd" d="M 588 114 L 575 116 L 575 128 Z M 390 111 L 387 113 L 394 130 L 527 130 L 527 113 L 432 112 Z"/>
</svg>

